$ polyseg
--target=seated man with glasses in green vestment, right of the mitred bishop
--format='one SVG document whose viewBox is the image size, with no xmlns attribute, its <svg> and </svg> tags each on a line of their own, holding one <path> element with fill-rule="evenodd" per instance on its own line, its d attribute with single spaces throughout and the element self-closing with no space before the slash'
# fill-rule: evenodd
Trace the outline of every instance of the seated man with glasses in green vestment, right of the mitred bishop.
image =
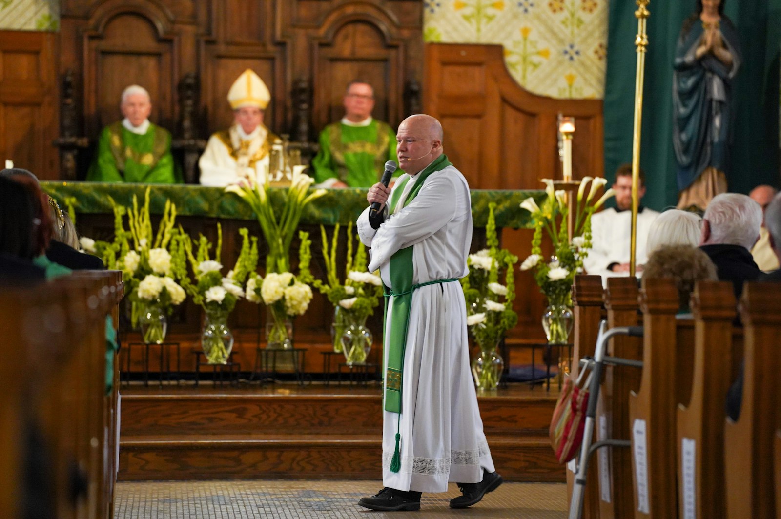
<svg viewBox="0 0 781 519">
<path fill-rule="evenodd" d="M 396 161 L 396 135 L 387 123 L 372 118 L 374 89 L 366 81 L 351 81 L 342 103 L 341 121 L 320 132 L 320 151 L 312 159 L 315 182 L 322 187 L 373 186 L 385 162 Z"/>
</svg>

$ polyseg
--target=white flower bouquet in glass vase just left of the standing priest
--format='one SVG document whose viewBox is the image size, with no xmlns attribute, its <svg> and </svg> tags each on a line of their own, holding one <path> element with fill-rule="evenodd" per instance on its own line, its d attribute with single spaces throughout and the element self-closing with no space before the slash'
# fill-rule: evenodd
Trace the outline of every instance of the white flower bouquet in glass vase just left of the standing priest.
<svg viewBox="0 0 781 519">
<path fill-rule="evenodd" d="M 376 273 L 366 272 L 366 247 L 355 235 L 352 222 L 347 227 L 347 258 L 344 277 L 340 278 L 337 261 L 340 228 L 338 224 L 334 226 L 329 240 L 325 227 L 320 226 L 326 279 L 315 279 L 312 284 L 328 297 L 334 307 L 331 329 L 333 351 L 344 353 L 348 364 L 363 364 L 373 339 L 366 329 L 366 319 L 380 304 L 383 281 Z M 309 272 L 306 275 L 312 277 Z"/>
</svg>

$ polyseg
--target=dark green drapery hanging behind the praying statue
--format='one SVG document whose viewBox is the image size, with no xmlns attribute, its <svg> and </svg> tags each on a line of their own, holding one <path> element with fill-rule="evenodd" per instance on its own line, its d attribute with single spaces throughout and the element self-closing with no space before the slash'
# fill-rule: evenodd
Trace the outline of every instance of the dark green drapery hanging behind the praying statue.
<svg viewBox="0 0 781 519">
<path fill-rule="evenodd" d="M 604 92 L 604 168 L 632 160 L 637 4 L 611 0 L 608 69 Z M 676 204 L 676 159 L 672 149 L 672 60 L 681 25 L 694 0 L 648 5 L 640 166 L 647 176 L 644 205 Z M 747 193 L 761 183 L 779 184 L 779 44 L 781 0 L 726 0 L 725 13 L 737 27 L 743 65 L 733 87 L 735 113 L 729 190 Z"/>
</svg>

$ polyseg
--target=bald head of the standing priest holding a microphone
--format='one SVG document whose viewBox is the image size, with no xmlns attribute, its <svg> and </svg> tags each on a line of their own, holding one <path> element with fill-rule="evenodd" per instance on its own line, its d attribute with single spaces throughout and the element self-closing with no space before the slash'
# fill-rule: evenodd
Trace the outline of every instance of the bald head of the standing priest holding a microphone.
<svg viewBox="0 0 781 519">
<path fill-rule="evenodd" d="M 415 175 L 442 155 L 442 125 L 425 114 L 401 121 L 396 133 L 398 164 L 409 175 Z"/>
</svg>

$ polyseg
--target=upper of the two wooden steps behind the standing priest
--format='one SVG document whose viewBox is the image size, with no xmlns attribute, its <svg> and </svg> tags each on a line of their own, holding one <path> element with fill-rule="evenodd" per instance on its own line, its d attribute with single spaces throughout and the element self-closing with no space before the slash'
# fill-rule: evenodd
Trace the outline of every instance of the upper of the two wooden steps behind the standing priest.
<svg viewBox="0 0 781 519">
<path fill-rule="evenodd" d="M 382 396 L 379 389 L 360 393 L 193 393 L 162 390 L 123 393 L 121 435 L 298 435 L 380 434 Z M 540 391 L 524 396 L 480 396 L 480 414 L 487 435 L 545 435 L 555 397 Z"/>
</svg>

